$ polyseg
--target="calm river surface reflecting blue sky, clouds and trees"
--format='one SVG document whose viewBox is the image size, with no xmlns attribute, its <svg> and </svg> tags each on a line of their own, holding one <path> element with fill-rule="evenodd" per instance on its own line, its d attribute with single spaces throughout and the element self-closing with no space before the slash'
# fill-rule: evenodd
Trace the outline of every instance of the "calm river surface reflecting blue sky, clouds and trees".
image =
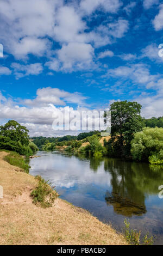
<svg viewBox="0 0 163 256">
<path fill-rule="evenodd" d="M 39 151 L 30 160 L 30 174 L 52 182 L 60 198 L 89 210 L 117 230 L 128 218 L 131 228 L 156 235 L 163 245 L 163 168 L 147 163 L 123 162 L 108 157 L 70 156 Z"/>
</svg>

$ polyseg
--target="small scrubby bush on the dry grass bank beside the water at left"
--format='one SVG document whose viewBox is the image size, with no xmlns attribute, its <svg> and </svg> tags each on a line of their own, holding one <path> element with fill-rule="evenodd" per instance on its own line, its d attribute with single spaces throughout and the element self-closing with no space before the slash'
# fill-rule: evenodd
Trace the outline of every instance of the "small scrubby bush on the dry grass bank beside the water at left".
<svg viewBox="0 0 163 256">
<path fill-rule="evenodd" d="M 39 181 L 39 184 L 32 191 L 31 196 L 33 197 L 33 203 L 39 203 L 43 208 L 51 207 L 58 197 L 58 193 L 51 187 L 48 181 L 45 181 L 41 176 L 35 177 Z"/>
</svg>

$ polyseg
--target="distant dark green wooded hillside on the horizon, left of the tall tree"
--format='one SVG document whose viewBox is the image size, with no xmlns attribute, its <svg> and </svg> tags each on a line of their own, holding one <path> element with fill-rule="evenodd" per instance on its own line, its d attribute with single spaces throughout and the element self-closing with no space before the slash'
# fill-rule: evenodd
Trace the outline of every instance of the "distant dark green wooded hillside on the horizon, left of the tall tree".
<svg viewBox="0 0 163 256">
<path fill-rule="evenodd" d="M 99 131 L 91 131 L 91 132 L 82 132 L 78 136 L 71 136 L 66 135 L 64 137 L 32 137 L 30 139 L 33 139 L 33 142 L 37 145 L 37 147 L 41 148 L 42 145 L 45 144 L 45 142 L 48 140 L 50 143 L 55 143 L 56 145 L 64 145 L 65 142 L 68 141 L 80 141 L 82 139 L 85 139 L 86 137 L 90 137 L 92 135 L 99 135 Z"/>
</svg>

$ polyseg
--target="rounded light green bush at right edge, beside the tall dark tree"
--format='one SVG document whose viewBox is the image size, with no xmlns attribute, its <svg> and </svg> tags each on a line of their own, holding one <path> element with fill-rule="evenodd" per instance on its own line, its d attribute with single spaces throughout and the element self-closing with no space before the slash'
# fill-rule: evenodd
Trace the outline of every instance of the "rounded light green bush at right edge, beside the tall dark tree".
<svg viewBox="0 0 163 256">
<path fill-rule="evenodd" d="M 145 127 L 141 132 L 136 132 L 131 141 L 131 155 L 138 161 L 148 161 L 152 155 L 163 160 L 163 128 Z"/>
</svg>

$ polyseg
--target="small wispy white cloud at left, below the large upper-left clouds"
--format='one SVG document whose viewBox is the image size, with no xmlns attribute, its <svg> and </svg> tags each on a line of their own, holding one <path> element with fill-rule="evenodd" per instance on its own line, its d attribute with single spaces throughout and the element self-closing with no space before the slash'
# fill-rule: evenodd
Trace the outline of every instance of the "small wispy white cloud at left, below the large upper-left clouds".
<svg viewBox="0 0 163 256">
<path fill-rule="evenodd" d="M 11 68 L 14 69 L 14 74 L 16 78 L 21 78 L 23 76 L 29 76 L 29 75 L 40 75 L 43 71 L 43 67 L 41 63 L 34 63 L 29 65 L 12 63 Z"/>
</svg>

